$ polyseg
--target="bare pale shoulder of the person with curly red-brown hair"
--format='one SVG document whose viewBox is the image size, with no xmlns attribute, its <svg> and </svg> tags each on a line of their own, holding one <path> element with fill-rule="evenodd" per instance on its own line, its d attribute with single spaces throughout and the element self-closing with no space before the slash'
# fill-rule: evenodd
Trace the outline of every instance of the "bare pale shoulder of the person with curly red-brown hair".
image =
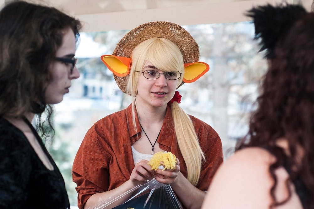
<svg viewBox="0 0 314 209">
<path fill-rule="evenodd" d="M 263 148 L 237 151 L 216 172 L 203 208 L 268 208 L 273 183 L 268 168 L 273 161 Z"/>
</svg>

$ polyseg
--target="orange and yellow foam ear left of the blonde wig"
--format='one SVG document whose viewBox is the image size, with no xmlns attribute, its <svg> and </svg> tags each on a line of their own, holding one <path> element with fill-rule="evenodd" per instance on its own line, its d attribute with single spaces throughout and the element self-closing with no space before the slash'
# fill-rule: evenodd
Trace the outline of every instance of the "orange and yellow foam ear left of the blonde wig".
<svg viewBox="0 0 314 209">
<path fill-rule="evenodd" d="M 100 59 L 116 76 L 124 77 L 130 72 L 131 58 L 114 55 L 102 55 Z"/>
</svg>

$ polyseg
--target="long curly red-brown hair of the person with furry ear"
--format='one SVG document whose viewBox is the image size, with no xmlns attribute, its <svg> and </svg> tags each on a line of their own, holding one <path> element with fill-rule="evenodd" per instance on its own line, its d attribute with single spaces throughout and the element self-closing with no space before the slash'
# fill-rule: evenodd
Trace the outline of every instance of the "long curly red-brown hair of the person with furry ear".
<svg viewBox="0 0 314 209">
<path fill-rule="evenodd" d="M 259 146 L 275 150 L 276 162 L 269 172 L 274 179 L 270 190 L 273 204 L 282 205 L 291 197 L 290 181 L 301 179 L 305 186 L 305 208 L 314 208 L 314 14 L 298 20 L 279 40 L 275 58 L 270 60 L 263 80 L 263 93 L 257 98 L 257 110 L 252 114 L 249 133 L 237 149 Z M 278 202 L 274 195 L 277 178 L 276 168 L 282 165 L 285 155 L 275 146 L 275 141 L 285 138 L 289 143 L 288 156 L 291 170 L 286 182 L 289 197 Z M 301 163 L 295 161 L 297 147 L 304 155 Z"/>
</svg>

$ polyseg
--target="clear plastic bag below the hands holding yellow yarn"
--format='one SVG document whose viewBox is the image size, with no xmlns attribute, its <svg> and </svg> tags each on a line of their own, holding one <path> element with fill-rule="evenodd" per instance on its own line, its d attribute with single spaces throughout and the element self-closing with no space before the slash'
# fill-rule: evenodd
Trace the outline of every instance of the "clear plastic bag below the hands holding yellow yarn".
<svg viewBox="0 0 314 209">
<path fill-rule="evenodd" d="M 181 203 L 169 184 L 155 178 L 127 192 L 111 197 L 88 209 L 182 209 Z"/>
</svg>

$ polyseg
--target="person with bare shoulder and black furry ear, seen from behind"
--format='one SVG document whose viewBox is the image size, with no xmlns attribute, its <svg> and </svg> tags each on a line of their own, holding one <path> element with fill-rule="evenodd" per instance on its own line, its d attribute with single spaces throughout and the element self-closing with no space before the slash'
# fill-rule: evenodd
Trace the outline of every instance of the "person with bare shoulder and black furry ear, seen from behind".
<svg viewBox="0 0 314 209">
<path fill-rule="evenodd" d="M 273 19 L 262 25 L 267 34 L 290 28 L 274 48 L 265 45 L 272 36 L 260 31 L 265 48 L 274 52 L 263 93 L 248 135 L 219 168 L 203 208 L 314 208 L 314 14 L 292 7 L 299 7 L 298 17 L 283 12 L 290 5 L 251 10 Z M 255 27 L 261 24 L 252 17 Z M 286 21 L 275 27 L 279 20 Z"/>
</svg>

